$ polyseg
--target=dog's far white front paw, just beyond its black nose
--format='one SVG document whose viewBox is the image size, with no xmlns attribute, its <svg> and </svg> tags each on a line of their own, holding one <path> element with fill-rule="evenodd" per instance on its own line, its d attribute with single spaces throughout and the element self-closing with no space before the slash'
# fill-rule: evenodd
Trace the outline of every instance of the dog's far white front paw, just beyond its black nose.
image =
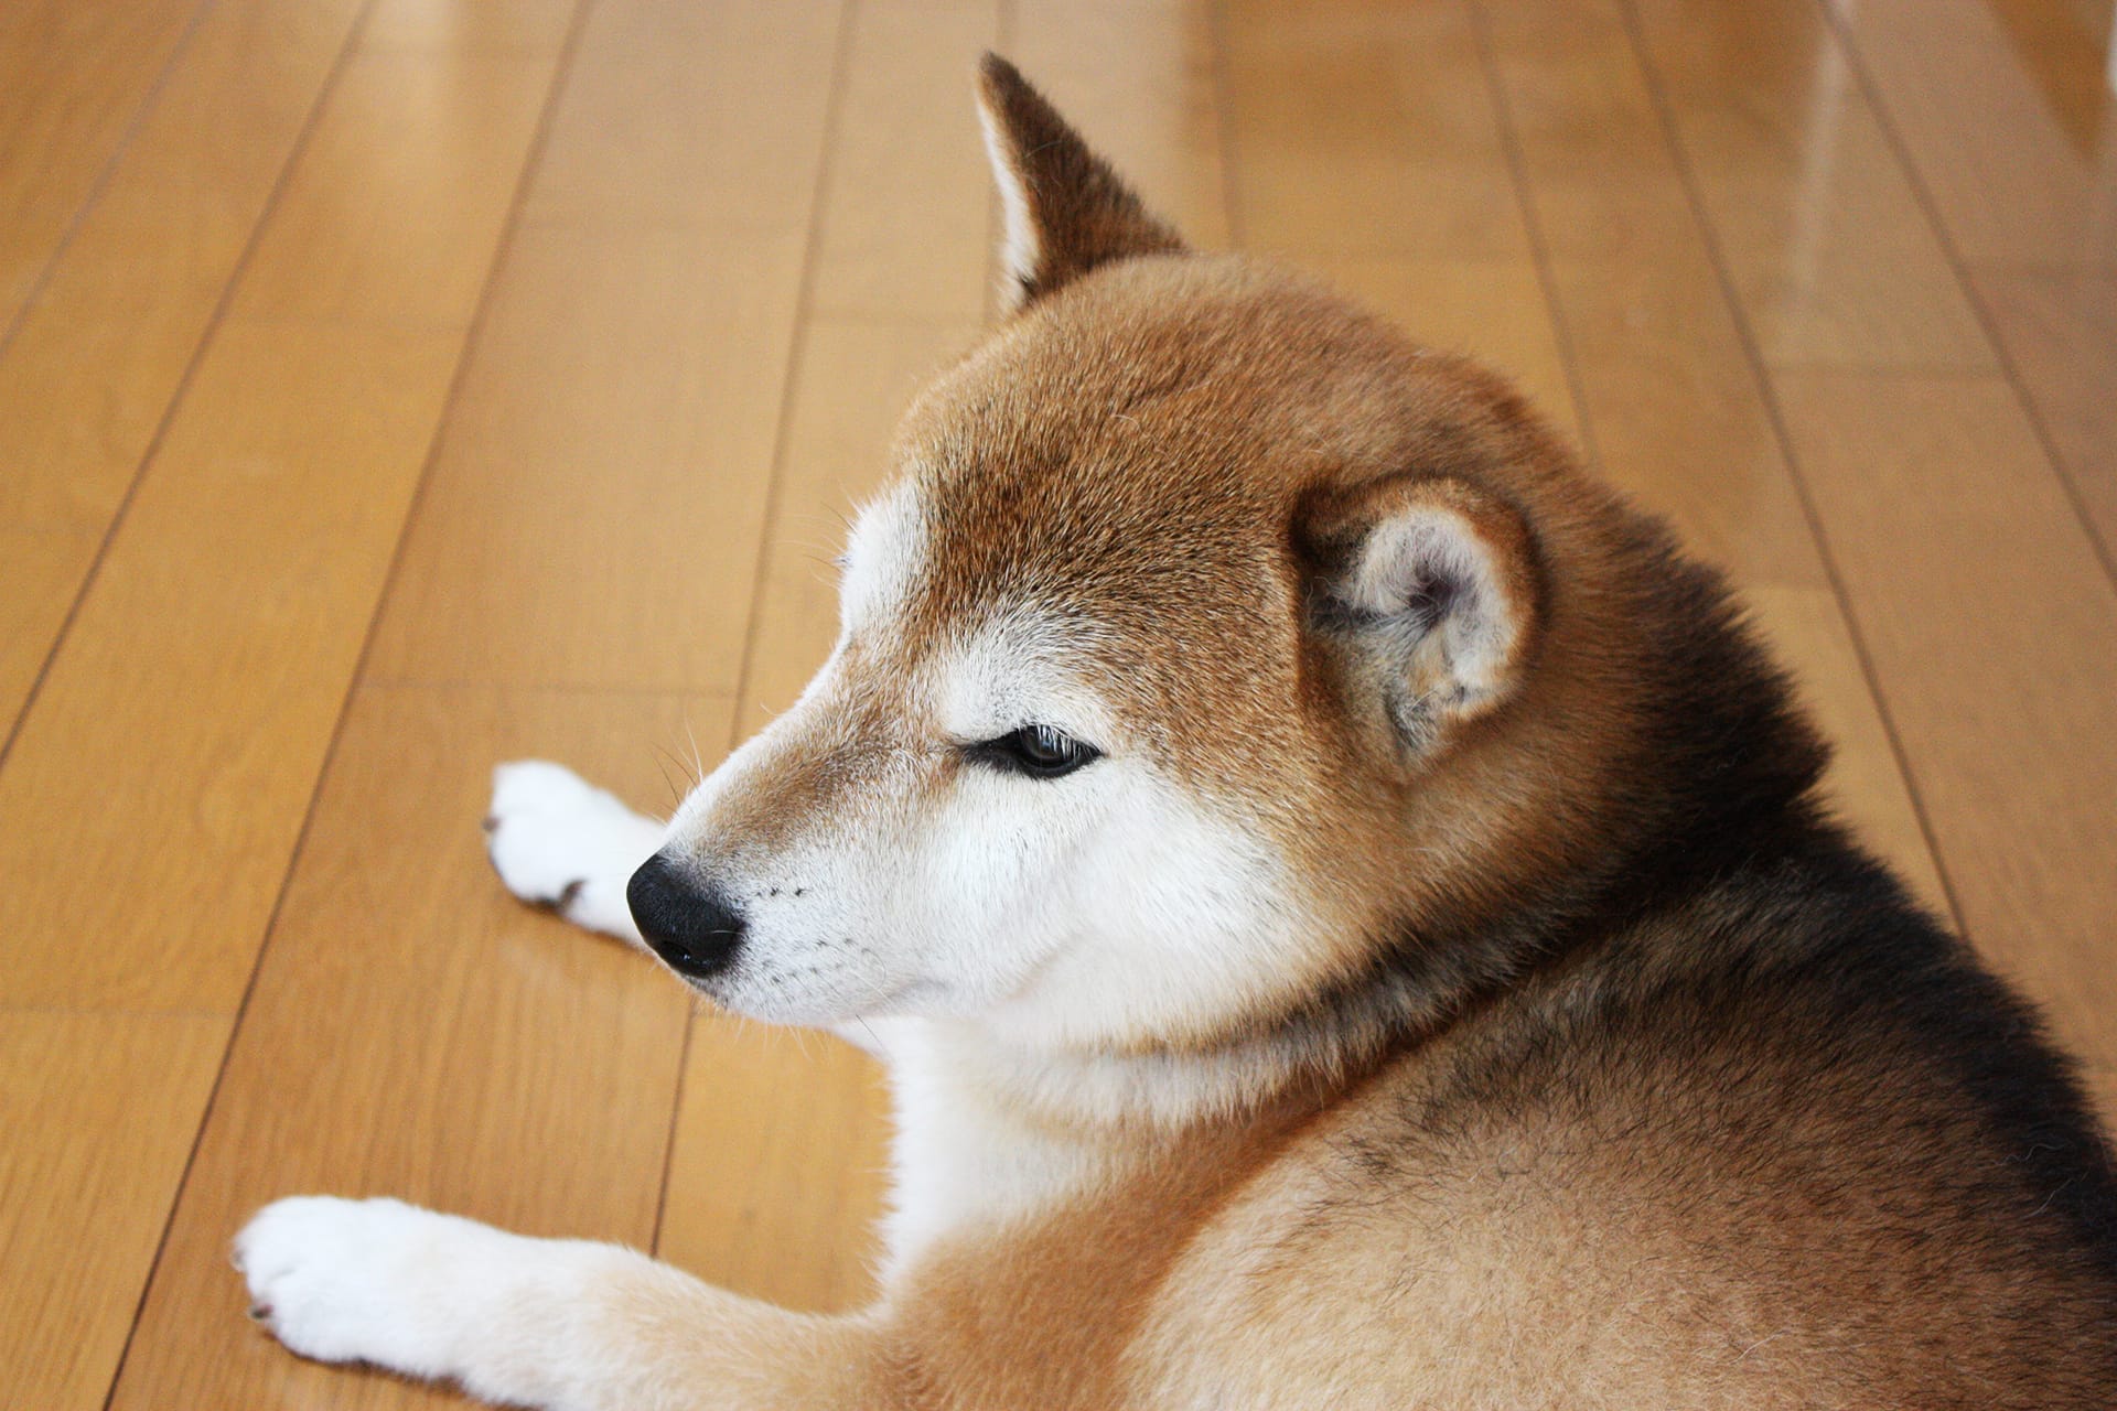
<svg viewBox="0 0 2117 1411">
<path fill-rule="evenodd" d="M 661 846 L 661 823 L 565 766 L 519 759 L 493 770 L 485 836 L 510 893 L 574 924 L 639 941 L 625 884 Z"/>
</svg>

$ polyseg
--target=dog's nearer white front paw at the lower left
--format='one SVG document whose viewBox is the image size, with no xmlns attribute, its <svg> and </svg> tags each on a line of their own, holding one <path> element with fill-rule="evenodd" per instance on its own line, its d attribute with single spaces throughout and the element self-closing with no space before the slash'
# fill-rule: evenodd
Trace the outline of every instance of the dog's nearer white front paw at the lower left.
<svg viewBox="0 0 2117 1411">
<path fill-rule="evenodd" d="M 235 1235 L 235 1267 L 250 1316 L 294 1352 L 438 1377 L 453 1369 L 436 1297 L 464 1252 L 451 1248 L 462 1225 L 400 1199 L 294 1195 Z"/>
</svg>

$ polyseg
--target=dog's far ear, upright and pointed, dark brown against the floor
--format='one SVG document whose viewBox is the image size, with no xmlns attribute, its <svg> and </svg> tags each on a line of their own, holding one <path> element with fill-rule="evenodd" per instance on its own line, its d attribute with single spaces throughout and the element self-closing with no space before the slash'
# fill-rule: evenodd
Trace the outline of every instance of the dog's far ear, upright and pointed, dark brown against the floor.
<svg viewBox="0 0 2117 1411">
<path fill-rule="evenodd" d="M 1008 311 L 1097 264 L 1183 250 L 1109 163 L 995 53 L 978 66 L 978 116 L 1006 212 Z"/>
</svg>

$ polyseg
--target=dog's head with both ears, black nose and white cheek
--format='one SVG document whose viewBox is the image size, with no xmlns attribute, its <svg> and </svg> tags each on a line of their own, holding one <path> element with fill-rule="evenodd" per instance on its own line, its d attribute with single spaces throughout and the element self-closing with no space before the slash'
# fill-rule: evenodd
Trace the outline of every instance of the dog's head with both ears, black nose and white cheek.
<svg viewBox="0 0 2117 1411">
<path fill-rule="evenodd" d="M 906 415 L 830 660 L 686 800 L 635 914 L 775 1022 L 1205 1041 L 1355 967 L 1421 888 L 1406 846 L 1505 831 L 1437 848 L 1416 800 L 1537 637 L 1522 512 L 1433 474 L 1503 461 L 1518 413 L 1181 252 L 1012 70 L 984 112 L 1018 307 Z"/>
</svg>

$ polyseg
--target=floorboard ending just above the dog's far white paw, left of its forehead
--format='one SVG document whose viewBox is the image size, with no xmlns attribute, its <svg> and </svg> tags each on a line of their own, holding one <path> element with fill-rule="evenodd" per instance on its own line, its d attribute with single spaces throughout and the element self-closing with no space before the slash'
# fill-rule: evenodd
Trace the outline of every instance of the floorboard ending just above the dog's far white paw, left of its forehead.
<svg viewBox="0 0 2117 1411">
<path fill-rule="evenodd" d="M 735 690 L 802 245 L 519 233 L 379 679 Z"/>
</svg>

